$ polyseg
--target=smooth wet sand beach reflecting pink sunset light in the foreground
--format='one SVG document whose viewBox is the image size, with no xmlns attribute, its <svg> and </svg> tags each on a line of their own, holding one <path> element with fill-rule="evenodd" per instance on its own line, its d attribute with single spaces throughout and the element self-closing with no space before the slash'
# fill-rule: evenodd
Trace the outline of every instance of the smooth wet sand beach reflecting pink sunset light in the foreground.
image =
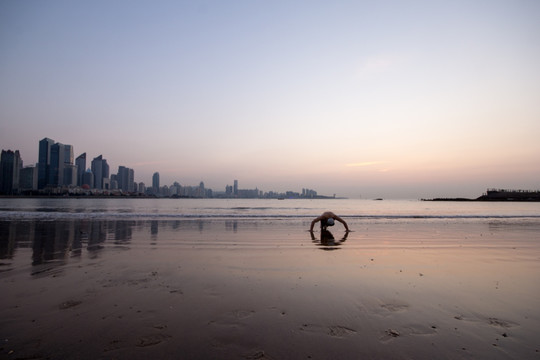
<svg viewBox="0 0 540 360">
<path fill-rule="evenodd" d="M 0 222 L 7 359 L 539 359 L 540 223 Z"/>
</svg>

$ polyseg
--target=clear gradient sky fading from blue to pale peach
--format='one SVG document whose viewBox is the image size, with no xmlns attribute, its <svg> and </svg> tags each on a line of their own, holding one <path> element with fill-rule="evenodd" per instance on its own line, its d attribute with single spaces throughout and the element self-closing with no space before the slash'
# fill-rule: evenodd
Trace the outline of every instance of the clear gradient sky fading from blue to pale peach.
<svg viewBox="0 0 540 360">
<path fill-rule="evenodd" d="M 363 198 L 540 188 L 540 1 L 0 0 L 0 147 Z M 89 166 L 89 164 L 88 164 Z"/>
</svg>

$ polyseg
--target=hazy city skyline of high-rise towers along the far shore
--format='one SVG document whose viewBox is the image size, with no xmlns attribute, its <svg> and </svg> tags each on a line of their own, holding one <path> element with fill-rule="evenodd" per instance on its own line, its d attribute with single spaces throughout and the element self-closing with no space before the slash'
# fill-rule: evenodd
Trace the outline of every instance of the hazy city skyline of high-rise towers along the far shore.
<svg viewBox="0 0 540 360">
<path fill-rule="evenodd" d="M 198 186 L 160 185 L 159 173 L 152 176 L 152 186 L 135 181 L 135 171 L 119 166 L 111 174 L 107 160 L 99 155 L 87 163 L 86 153 L 74 158 L 72 145 L 49 138 L 39 141 L 38 162 L 23 166 L 18 150 L 2 150 L 0 158 L 1 195 L 130 195 L 192 198 L 323 198 L 315 190 L 302 189 L 302 193 L 263 192 L 239 189 L 238 180 L 227 185 L 225 191 L 207 189 L 201 181 Z M 89 167 L 87 167 L 89 165 Z"/>
</svg>

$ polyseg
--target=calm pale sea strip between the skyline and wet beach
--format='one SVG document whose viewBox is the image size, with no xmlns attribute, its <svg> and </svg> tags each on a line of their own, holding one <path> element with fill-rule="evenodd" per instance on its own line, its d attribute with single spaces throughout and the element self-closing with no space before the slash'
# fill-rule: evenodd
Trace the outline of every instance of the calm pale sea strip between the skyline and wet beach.
<svg viewBox="0 0 540 360">
<path fill-rule="evenodd" d="M 345 219 L 540 219 L 540 203 L 359 199 L 0 199 L 0 220 L 307 219 L 324 211 Z"/>
</svg>

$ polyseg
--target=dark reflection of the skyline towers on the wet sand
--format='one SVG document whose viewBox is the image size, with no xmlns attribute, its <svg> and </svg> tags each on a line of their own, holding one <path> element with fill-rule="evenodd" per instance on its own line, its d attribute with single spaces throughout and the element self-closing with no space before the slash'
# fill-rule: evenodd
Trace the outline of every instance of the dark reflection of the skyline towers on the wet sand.
<svg viewBox="0 0 540 360">
<path fill-rule="evenodd" d="M 240 226 L 241 228 L 241 226 Z M 129 248 L 134 234 L 148 245 L 158 245 L 160 232 L 168 241 L 189 239 L 205 230 L 237 233 L 238 221 L 217 223 L 209 220 L 59 220 L 0 221 L 0 260 L 10 260 L 17 252 L 31 249 L 31 265 L 62 266 L 70 258 L 86 253 L 97 258 L 106 247 Z M 146 240 L 145 240 L 146 239 Z M 3 261 L 1 271 L 10 265 Z M 33 274 L 41 270 L 33 270 Z"/>
</svg>

